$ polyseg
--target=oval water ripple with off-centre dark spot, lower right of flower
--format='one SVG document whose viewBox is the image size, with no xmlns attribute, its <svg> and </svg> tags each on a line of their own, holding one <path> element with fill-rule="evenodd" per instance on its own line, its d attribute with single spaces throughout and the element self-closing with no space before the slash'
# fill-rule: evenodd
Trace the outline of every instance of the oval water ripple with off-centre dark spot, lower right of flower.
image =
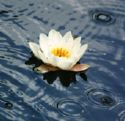
<svg viewBox="0 0 125 121">
<path fill-rule="evenodd" d="M 108 108 L 116 105 L 114 95 L 105 89 L 91 89 L 87 91 L 87 99 L 89 103 L 96 107 Z"/>
</svg>

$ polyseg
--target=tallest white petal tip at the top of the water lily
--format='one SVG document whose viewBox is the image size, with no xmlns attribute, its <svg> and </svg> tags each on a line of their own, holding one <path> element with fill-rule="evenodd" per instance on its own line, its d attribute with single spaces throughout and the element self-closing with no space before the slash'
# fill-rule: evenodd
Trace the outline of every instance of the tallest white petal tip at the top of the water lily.
<svg viewBox="0 0 125 121">
<path fill-rule="evenodd" d="M 59 43 L 61 40 L 62 40 L 62 35 L 60 34 L 60 32 L 52 29 L 50 32 L 49 32 L 49 41 L 51 41 L 52 43 Z"/>
</svg>

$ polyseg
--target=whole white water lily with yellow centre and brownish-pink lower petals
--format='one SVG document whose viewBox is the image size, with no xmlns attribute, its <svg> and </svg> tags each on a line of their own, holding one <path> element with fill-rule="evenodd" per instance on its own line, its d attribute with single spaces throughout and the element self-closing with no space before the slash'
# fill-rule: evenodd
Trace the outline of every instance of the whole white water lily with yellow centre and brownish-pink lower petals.
<svg viewBox="0 0 125 121">
<path fill-rule="evenodd" d="M 39 67 L 42 73 L 56 70 L 83 71 L 89 68 L 88 64 L 76 64 L 84 55 L 88 44 L 81 44 L 81 37 L 73 38 L 69 31 L 64 36 L 56 30 L 47 35 L 40 34 L 39 45 L 29 42 L 34 56 L 44 62 Z"/>
</svg>

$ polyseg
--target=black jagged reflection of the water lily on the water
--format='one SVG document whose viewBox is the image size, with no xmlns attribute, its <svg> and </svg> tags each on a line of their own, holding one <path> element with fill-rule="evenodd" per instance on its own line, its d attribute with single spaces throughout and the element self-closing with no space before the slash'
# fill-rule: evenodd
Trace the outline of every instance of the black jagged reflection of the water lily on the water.
<svg viewBox="0 0 125 121">
<path fill-rule="evenodd" d="M 37 68 L 43 64 L 43 62 L 37 59 L 34 55 L 30 57 L 25 64 L 27 65 L 34 65 L 33 70 L 39 73 Z M 85 72 L 73 72 L 73 71 L 64 71 L 64 70 L 57 70 L 57 71 L 50 71 L 48 73 L 44 73 L 43 80 L 46 80 L 49 84 L 53 84 L 53 82 L 59 78 L 61 84 L 65 87 L 68 87 L 71 83 L 75 83 L 77 81 L 76 74 L 78 74 L 83 80 L 87 81 L 87 75 Z"/>
</svg>

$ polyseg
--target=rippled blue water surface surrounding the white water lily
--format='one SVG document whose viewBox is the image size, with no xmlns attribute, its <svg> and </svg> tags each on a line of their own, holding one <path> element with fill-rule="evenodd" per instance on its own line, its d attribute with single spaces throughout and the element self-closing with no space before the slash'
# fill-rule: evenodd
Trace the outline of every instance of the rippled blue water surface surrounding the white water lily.
<svg viewBox="0 0 125 121">
<path fill-rule="evenodd" d="M 71 30 L 86 75 L 42 75 L 25 62 L 41 32 Z M 0 121 L 125 121 L 124 0 L 1 0 Z"/>
</svg>

